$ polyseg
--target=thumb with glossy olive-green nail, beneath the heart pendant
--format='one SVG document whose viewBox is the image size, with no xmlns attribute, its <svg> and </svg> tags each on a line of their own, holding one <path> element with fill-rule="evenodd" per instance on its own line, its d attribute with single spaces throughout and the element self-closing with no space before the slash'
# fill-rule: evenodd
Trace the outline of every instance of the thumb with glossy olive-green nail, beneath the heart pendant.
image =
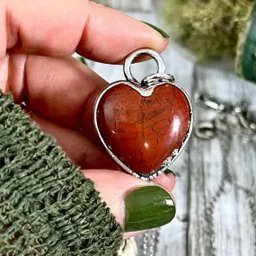
<svg viewBox="0 0 256 256">
<path fill-rule="evenodd" d="M 127 173 L 86 170 L 124 232 L 137 232 L 165 225 L 175 216 L 171 194 L 154 182 L 141 181 Z"/>
</svg>

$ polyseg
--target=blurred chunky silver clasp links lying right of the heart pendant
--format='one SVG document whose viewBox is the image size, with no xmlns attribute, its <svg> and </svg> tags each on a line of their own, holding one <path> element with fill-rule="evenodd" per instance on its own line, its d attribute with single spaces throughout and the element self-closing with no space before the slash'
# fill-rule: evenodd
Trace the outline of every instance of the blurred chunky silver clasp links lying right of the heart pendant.
<svg viewBox="0 0 256 256">
<path fill-rule="evenodd" d="M 203 121 L 195 126 L 197 137 L 211 139 L 220 133 L 238 133 L 244 142 L 256 143 L 256 121 L 248 109 L 247 102 L 236 104 L 218 102 L 207 94 L 196 94 L 195 102 L 203 108 L 215 110 L 215 119 Z"/>
</svg>

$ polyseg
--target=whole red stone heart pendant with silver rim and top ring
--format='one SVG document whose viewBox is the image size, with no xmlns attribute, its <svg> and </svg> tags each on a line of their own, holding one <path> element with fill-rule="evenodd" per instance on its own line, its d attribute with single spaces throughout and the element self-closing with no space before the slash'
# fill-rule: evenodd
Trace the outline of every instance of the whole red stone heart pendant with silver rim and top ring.
<svg viewBox="0 0 256 256">
<path fill-rule="evenodd" d="M 142 54 L 155 59 L 158 73 L 138 83 L 130 66 Z M 164 71 L 158 53 L 138 49 L 126 59 L 127 81 L 110 84 L 94 108 L 94 125 L 102 145 L 125 171 L 146 181 L 170 167 L 192 128 L 190 100 Z"/>
</svg>

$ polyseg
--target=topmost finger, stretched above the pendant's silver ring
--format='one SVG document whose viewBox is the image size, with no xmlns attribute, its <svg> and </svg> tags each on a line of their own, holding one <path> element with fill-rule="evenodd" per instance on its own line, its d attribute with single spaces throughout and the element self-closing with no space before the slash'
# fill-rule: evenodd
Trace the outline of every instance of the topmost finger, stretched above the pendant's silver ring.
<svg viewBox="0 0 256 256">
<path fill-rule="evenodd" d="M 10 0 L 4 9 L 7 36 L 0 30 L 0 38 L 6 38 L 7 49 L 27 54 L 67 57 L 77 51 L 116 63 L 135 49 L 161 52 L 167 45 L 163 35 L 145 23 L 87 0 Z"/>
</svg>

